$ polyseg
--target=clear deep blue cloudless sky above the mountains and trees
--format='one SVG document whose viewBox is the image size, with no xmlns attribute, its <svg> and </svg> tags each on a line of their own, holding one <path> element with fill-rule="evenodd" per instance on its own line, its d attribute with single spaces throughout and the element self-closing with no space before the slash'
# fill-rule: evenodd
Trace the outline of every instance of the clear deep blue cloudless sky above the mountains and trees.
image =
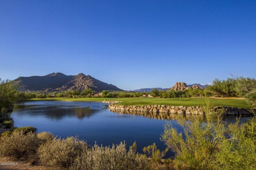
<svg viewBox="0 0 256 170">
<path fill-rule="evenodd" d="M 256 77 L 256 1 L 0 0 L 0 77 L 53 72 L 124 90 Z"/>
</svg>

